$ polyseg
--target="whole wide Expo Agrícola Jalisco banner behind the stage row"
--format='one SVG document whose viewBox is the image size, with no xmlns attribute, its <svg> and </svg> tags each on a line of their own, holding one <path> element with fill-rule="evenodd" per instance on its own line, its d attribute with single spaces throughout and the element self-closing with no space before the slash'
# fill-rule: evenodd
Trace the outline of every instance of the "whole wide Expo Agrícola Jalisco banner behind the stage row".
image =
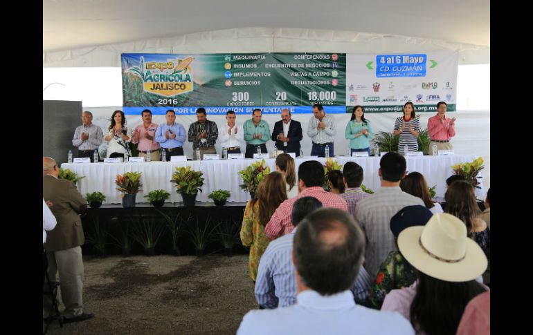
<svg viewBox="0 0 533 335">
<path fill-rule="evenodd" d="M 209 114 L 250 114 L 254 108 L 266 114 L 283 108 L 311 113 L 319 103 L 327 113 L 350 113 L 357 104 L 371 113 L 399 111 L 405 101 L 417 110 L 424 104 L 422 111 L 434 111 L 440 100 L 455 111 L 457 64 L 456 52 L 446 57 L 439 52 L 123 54 L 123 111 L 140 115 L 150 108 L 163 115 L 172 109 L 183 115 L 204 107 Z M 445 87 L 446 94 L 424 95 L 418 86 Z"/>
</svg>

